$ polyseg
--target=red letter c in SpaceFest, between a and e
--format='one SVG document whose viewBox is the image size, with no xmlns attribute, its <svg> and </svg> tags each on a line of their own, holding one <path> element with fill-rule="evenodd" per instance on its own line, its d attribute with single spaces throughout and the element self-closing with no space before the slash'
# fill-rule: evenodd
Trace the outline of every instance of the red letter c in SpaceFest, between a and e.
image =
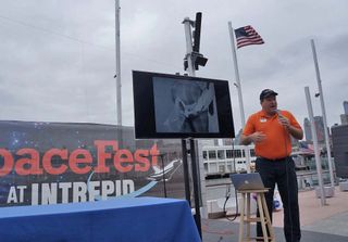
<svg viewBox="0 0 348 242">
<path fill-rule="evenodd" d="M 65 164 L 60 165 L 59 167 L 53 167 L 52 166 L 52 157 L 53 156 L 59 156 L 61 160 L 67 160 L 67 150 L 60 150 L 60 149 L 51 149 L 48 150 L 42 157 L 42 166 L 44 169 L 48 174 L 52 175 L 60 175 L 66 171 L 67 166 Z"/>
</svg>

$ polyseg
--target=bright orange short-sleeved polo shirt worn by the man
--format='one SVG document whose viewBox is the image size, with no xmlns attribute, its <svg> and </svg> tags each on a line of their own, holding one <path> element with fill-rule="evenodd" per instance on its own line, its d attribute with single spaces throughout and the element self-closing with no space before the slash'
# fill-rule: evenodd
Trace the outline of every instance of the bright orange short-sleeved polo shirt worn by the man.
<svg viewBox="0 0 348 242">
<path fill-rule="evenodd" d="M 281 114 L 289 119 L 291 126 L 301 128 L 290 112 L 281 111 Z M 265 135 L 265 139 L 263 141 L 254 144 L 257 156 L 275 160 L 290 155 L 290 135 L 278 122 L 278 114 L 270 117 L 262 110 L 252 114 L 248 118 L 246 127 L 243 130 L 243 135 L 250 136 L 256 131 L 261 131 Z"/>
</svg>

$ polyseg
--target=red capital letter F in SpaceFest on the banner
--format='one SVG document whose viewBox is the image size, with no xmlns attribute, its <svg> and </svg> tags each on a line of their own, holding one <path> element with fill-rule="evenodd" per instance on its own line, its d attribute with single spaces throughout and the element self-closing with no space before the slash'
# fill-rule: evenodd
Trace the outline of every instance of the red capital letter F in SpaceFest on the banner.
<svg viewBox="0 0 348 242">
<path fill-rule="evenodd" d="M 114 140 L 96 140 L 95 145 L 97 147 L 97 167 L 95 168 L 96 173 L 109 173 L 110 168 L 105 165 L 105 160 L 111 158 L 110 153 L 105 153 L 105 147 L 112 147 L 113 151 L 119 150 L 119 144 Z"/>
</svg>

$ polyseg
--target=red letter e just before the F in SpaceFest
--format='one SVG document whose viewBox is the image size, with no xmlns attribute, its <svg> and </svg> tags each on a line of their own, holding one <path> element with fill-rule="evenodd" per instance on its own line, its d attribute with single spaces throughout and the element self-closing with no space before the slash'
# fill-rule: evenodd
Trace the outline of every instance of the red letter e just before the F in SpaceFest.
<svg viewBox="0 0 348 242">
<path fill-rule="evenodd" d="M 78 157 L 83 156 L 83 157 Z M 92 162 L 89 151 L 84 149 L 77 149 L 73 151 L 69 157 L 70 168 L 75 174 L 87 174 L 90 171 L 91 167 L 86 165 L 84 167 L 78 167 L 78 164 L 90 164 Z"/>
</svg>

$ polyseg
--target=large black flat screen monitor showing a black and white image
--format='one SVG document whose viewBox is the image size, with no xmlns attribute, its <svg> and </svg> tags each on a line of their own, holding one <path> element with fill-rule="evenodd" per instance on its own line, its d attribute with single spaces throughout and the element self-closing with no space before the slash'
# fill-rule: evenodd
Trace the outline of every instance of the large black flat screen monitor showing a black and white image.
<svg viewBox="0 0 348 242">
<path fill-rule="evenodd" d="M 234 138 L 228 81 L 133 71 L 135 137 Z"/>
</svg>

